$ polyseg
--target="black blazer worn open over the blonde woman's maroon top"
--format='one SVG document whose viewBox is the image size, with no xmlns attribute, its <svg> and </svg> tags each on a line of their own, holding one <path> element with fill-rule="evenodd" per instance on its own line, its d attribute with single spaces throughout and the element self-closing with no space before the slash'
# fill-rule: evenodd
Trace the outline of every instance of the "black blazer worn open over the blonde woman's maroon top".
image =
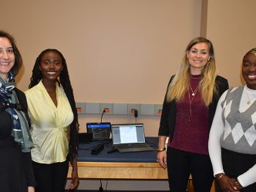
<svg viewBox="0 0 256 192">
<path fill-rule="evenodd" d="M 168 87 L 173 80 L 172 76 L 170 78 L 170 81 L 167 86 L 167 91 Z M 228 89 L 228 83 L 227 79 L 224 79 L 222 76 L 217 76 L 215 79 L 215 83 L 217 83 L 217 90 L 218 94 L 214 94 L 213 100 L 209 106 L 209 130 L 211 129 L 211 123 L 214 120 L 214 114 L 215 114 L 215 109 L 217 107 L 217 102 L 220 99 L 222 93 L 224 93 Z M 170 140 L 173 139 L 173 133 L 175 130 L 175 123 L 176 123 L 176 101 L 173 100 L 170 103 L 167 103 L 167 93 L 164 97 L 163 101 L 163 109 L 162 109 L 162 115 L 160 119 L 160 128 L 158 131 L 159 136 L 170 136 Z"/>
</svg>

